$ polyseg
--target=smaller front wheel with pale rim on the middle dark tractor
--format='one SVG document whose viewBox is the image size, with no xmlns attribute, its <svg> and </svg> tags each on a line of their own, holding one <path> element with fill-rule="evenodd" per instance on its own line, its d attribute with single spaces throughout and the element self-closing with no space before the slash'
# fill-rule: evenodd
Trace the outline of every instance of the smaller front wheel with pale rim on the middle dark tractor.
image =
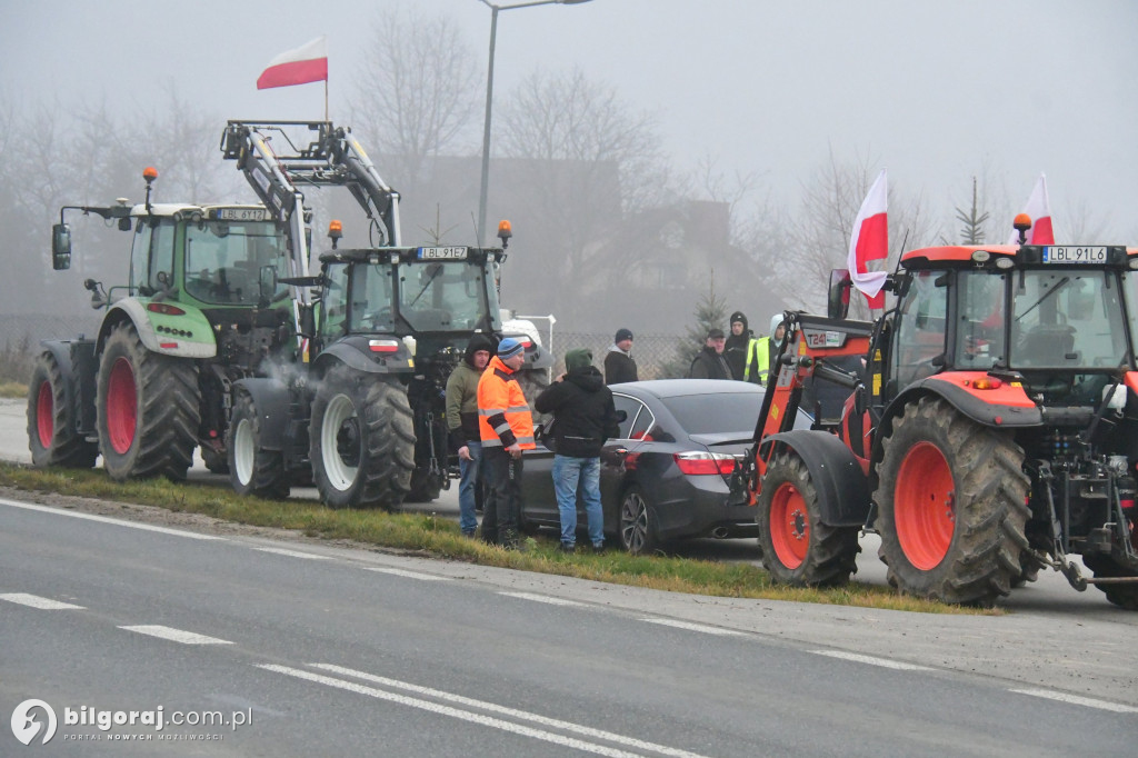
<svg viewBox="0 0 1138 758">
<path fill-rule="evenodd" d="M 253 396 L 238 392 L 225 432 L 229 481 L 239 495 L 284 500 L 291 489 L 284 472 L 284 454 L 279 450 L 265 450 L 262 434 L 261 413 Z M 273 442 L 279 444 L 280 440 Z"/>
</svg>

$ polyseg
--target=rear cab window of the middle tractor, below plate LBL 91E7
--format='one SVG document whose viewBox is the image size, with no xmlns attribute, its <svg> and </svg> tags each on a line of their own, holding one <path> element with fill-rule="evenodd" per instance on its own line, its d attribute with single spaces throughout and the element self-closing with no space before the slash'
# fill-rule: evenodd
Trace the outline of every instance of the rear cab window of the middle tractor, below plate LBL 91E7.
<svg viewBox="0 0 1138 758">
<path fill-rule="evenodd" d="M 417 331 L 475 329 L 497 312 L 495 288 L 485 282 L 486 267 L 465 261 L 399 264 L 399 315 Z"/>
</svg>

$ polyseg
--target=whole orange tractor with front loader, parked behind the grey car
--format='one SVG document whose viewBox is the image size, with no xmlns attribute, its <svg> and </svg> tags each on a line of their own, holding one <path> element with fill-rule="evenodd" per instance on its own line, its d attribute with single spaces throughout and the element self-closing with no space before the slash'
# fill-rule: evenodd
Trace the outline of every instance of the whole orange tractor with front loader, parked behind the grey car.
<svg viewBox="0 0 1138 758">
<path fill-rule="evenodd" d="M 987 605 L 1050 567 L 1138 610 L 1136 270 L 1121 246 L 930 247 L 874 322 L 846 319 L 848 277 L 827 318 L 787 312 L 734 483 L 772 577 L 848 582 L 867 532 L 906 593 Z"/>
</svg>

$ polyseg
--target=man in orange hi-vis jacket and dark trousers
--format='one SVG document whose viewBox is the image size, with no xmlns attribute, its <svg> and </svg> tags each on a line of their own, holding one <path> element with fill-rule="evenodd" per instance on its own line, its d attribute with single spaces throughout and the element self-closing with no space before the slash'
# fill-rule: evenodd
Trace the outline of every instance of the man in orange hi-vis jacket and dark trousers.
<svg viewBox="0 0 1138 758">
<path fill-rule="evenodd" d="M 483 539 L 506 550 L 518 550 L 521 451 L 534 448 L 534 419 L 517 376 L 525 362 L 521 343 L 506 337 L 478 380 L 478 431 L 489 484 Z"/>
</svg>

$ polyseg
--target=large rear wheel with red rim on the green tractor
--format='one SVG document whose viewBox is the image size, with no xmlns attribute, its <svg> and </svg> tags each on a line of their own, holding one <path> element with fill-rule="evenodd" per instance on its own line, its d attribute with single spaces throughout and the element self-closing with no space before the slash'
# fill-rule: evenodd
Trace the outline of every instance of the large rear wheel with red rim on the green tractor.
<svg viewBox="0 0 1138 758">
<path fill-rule="evenodd" d="M 99 451 L 110 478 L 184 479 L 200 422 L 197 364 L 151 353 L 123 321 L 104 343 L 98 389 Z"/>
</svg>

